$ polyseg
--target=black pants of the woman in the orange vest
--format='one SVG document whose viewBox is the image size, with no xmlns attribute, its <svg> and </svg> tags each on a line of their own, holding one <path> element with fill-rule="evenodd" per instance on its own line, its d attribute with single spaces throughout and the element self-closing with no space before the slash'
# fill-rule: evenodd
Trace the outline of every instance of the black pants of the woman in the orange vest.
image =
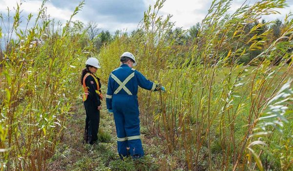
<svg viewBox="0 0 293 171">
<path fill-rule="evenodd" d="M 94 107 L 89 99 L 84 102 L 84 109 L 86 114 L 84 140 L 88 144 L 94 144 L 98 140 L 100 110 L 98 107 Z"/>
</svg>

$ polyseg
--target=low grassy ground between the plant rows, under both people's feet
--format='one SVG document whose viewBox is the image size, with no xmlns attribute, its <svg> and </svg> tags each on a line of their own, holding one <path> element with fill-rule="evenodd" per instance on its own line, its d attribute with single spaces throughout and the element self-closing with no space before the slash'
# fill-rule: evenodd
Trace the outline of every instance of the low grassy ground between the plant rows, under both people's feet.
<svg viewBox="0 0 293 171">
<path fill-rule="evenodd" d="M 136 161 L 120 160 L 113 116 L 105 108 L 103 101 L 99 143 L 83 144 L 85 111 L 81 100 L 77 101 L 63 140 L 49 161 L 48 171 L 179 171 L 185 168 L 184 158 L 166 154 L 163 138 L 150 136 L 144 127 L 141 132 L 145 157 Z"/>
</svg>

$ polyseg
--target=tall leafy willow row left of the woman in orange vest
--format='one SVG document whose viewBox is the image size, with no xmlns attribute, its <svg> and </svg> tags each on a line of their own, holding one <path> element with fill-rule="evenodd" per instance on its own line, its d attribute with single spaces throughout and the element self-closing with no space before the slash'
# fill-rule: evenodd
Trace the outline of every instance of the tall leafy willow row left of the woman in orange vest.
<svg viewBox="0 0 293 171">
<path fill-rule="evenodd" d="M 35 20 L 28 16 L 33 26 L 25 29 L 20 29 L 17 5 L 8 28 L 11 36 L 3 37 L 7 42 L 0 61 L 1 171 L 45 171 L 79 95 L 79 70 L 87 49 L 80 45 L 83 34 L 72 36 L 68 28 L 84 1 L 65 27 L 48 19 L 45 2 Z"/>
</svg>

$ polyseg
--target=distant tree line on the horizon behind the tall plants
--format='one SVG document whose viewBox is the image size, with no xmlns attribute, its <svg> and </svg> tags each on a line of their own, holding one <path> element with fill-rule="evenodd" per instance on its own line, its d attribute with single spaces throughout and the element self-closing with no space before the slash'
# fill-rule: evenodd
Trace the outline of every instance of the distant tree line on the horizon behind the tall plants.
<svg viewBox="0 0 293 171">
<path fill-rule="evenodd" d="M 243 42 L 242 46 L 245 46 L 250 50 L 247 51 L 245 56 L 241 56 L 238 62 L 248 64 L 254 57 L 263 52 L 263 49 L 268 48 L 268 46 L 272 44 L 273 41 L 281 36 L 282 30 L 285 28 L 286 24 L 288 23 L 283 23 L 280 19 L 275 19 L 273 21 L 266 21 L 265 19 L 262 19 L 260 22 L 256 20 L 251 23 L 246 23 L 243 28 L 243 34 L 247 35 L 248 40 L 255 36 L 263 35 L 262 39 L 266 42 L 254 49 L 250 49 L 250 46 L 253 42 L 248 44 L 244 44 Z M 249 33 L 254 27 L 257 29 L 253 33 Z M 176 27 L 175 29 L 169 30 L 167 39 L 174 39 L 174 44 L 180 46 L 180 48 L 183 49 L 183 53 L 188 53 L 189 47 L 191 47 L 194 43 L 200 43 L 200 38 L 198 37 L 200 30 L 200 22 L 197 22 L 187 30 L 183 29 L 182 27 Z M 130 34 L 122 30 L 116 30 L 112 34 L 108 30 L 101 30 L 98 24 L 93 21 L 90 21 L 87 24 L 78 20 L 71 22 L 70 33 L 72 36 L 76 34 L 80 35 L 82 32 L 86 33 L 84 39 L 81 42 L 82 46 L 86 47 L 91 44 L 97 53 L 100 52 L 100 49 L 103 45 L 112 42 L 115 40 L 115 38 L 122 36 L 133 37 L 136 34 L 143 34 L 142 30 L 134 30 Z M 260 38 L 257 38 L 257 40 L 260 40 Z M 233 45 L 232 41 L 230 44 L 232 44 L 232 46 L 236 46 Z M 223 51 L 225 51 L 225 49 L 223 49 Z M 289 49 L 289 51 L 292 51 L 292 49 Z M 212 54 L 209 55 L 212 56 Z M 277 63 L 278 59 L 275 60 Z"/>
</svg>

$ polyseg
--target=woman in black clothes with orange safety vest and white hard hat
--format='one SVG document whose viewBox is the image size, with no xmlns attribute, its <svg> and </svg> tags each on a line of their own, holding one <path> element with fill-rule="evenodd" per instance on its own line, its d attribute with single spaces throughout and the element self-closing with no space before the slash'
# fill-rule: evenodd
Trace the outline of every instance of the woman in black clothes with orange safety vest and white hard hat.
<svg viewBox="0 0 293 171">
<path fill-rule="evenodd" d="M 89 57 L 85 62 L 85 69 L 82 72 L 81 83 L 83 85 L 84 109 L 85 109 L 85 128 L 84 141 L 88 144 L 94 144 L 98 140 L 98 131 L 100 124 L 101 92 L 100 78 L 94 74 L 100 67 L 99 60 L 95 57 Z"/>
</svg>

